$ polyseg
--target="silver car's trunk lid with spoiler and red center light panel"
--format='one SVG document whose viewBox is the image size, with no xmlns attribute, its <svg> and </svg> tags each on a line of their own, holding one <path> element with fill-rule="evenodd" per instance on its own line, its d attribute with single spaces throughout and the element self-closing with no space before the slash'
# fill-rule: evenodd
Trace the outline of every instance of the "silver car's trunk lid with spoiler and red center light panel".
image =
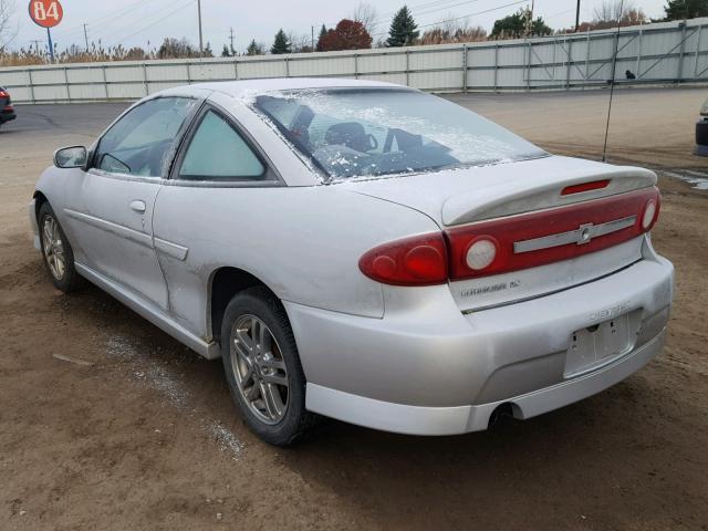
<svg viewBox="0 0 708 531">
<path fill-rule="evenodd" d="M 450 290 L 467 312 L 579 285 L 639 260 L 639 218 L 655 184 L 646 169 L 551 156 L 345 186 L 438 223 L 448 241 Z M 509 259 L 477 274 L 466 252 L 500 222 L 492 240 L 502 241 Z"/>
</svg>

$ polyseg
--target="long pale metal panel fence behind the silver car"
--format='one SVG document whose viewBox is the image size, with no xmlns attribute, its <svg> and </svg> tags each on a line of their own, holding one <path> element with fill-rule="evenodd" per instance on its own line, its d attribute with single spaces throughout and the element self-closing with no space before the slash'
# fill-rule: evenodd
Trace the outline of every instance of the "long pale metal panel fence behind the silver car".
<svg viewBox="0 0 708 531">
<path fill-rule="evenodd" d="M 0 69 L 15 102 L 136 100 L 201 81 L 280 76 L 381 80 L 431 92 L 708 81 L 708 18 L 529 40 L 227 59 Z M 617 50 L 615 56 L 615 49 Z M 625 72 L 636 76 L 627 81 Z"/>
</svg>

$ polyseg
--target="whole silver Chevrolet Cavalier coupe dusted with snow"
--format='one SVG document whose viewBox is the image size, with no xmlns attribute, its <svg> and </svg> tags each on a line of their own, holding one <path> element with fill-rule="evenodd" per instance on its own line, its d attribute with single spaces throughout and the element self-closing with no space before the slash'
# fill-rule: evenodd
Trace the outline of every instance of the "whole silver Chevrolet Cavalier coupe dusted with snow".
<svg viewBox="0 0 708 531">
<path fill-rule="evenodd" d="M 418 435 L 529 418 L 664 343 L 655 174 L 552 156 L 434 95 L 170 88 L 54 159 L 30 206 L 54 285 L 87 279 L 221 356 L 272 444 L 317 414 Z"/>
</svg>

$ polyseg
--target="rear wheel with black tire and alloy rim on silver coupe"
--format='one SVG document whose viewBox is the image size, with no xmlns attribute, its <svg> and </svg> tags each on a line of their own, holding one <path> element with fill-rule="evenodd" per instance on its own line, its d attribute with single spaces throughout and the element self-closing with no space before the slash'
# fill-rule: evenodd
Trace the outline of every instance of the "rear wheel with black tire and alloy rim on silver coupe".
<svg viewBox="0 0 708 531">
<path fill-rule="evenodd" d="M 264 287 L 236 294 L 221 324 L 221 358 L 233 402 L 262 440 L 290 446 L 317 416 L 305 409 L 305 375 L 281 302 Z"/>
</svg>

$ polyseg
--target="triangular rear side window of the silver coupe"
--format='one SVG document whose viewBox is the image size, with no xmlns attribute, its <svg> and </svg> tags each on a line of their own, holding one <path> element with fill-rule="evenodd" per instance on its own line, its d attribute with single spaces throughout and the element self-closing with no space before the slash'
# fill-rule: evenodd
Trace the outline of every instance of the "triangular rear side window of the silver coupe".
<svg viewBox="0 0 708 531">
<path fill-rule="evenodd" d="M 266 166 L 225 118 L 207 111 L 179 168 L 187 180 L 259 180 Z"/>
</svg>

